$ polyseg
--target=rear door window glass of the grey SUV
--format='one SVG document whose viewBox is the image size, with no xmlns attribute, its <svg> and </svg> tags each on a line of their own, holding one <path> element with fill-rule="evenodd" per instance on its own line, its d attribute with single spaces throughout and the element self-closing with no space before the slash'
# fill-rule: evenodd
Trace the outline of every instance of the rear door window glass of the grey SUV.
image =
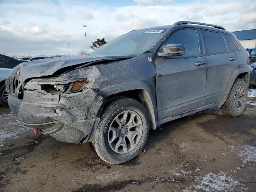
<svg viewBox="0 0 256 192">
<path fill-rule="evenodd" d="M 201 30 L 201 33 L 204 39 L 206 54 L 215 54 L 227 51 L 222 34 L 205 30 Z"/>
</svg>

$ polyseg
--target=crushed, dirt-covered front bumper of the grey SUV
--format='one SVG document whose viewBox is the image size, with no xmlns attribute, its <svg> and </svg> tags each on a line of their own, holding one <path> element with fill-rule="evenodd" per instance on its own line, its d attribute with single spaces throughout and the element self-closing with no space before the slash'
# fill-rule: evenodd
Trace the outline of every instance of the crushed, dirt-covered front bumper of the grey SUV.
<svg viewBox="0 0 256 192">
<path fill-rule="evenodd" d="M 24 91 L 23 100 L 9 94 L 8 104 L 18 121 L 37 127 L 44 135 L 62 142 L 87 142 L 98 125 L 103 98 L 94 90 L 62 95 Z"/>
</svg>

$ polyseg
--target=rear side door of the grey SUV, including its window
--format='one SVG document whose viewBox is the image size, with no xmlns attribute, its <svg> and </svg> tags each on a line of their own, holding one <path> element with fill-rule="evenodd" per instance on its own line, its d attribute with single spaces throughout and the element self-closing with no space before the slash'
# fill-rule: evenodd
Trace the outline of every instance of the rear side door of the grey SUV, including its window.
<svg viewBox="0 0 256 192">
<path fill-rule="evenodd" d="M 203 105 L 207 105 L 223 100 L 232 74 L 238 65 L 238 59 L 230 50 L 228 42 L 224 39 L 224 34 L 211 30 L 200 30 L 200 32 L 208 63 L 203 103 Z M 236 43 L 235 45 L 238 50 Z"/>
</svg>

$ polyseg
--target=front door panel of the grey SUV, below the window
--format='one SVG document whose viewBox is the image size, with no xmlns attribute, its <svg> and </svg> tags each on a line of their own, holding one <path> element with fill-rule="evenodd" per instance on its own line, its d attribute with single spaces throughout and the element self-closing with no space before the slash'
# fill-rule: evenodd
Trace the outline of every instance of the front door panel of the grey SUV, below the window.
<svg viewBox="0 0 256 192">
<path fill-rule="evenodd" d="M 156 58 L 158 120 L 202 106 L 208 65 L 198 61 L 204 58 Z"/>
</svg>

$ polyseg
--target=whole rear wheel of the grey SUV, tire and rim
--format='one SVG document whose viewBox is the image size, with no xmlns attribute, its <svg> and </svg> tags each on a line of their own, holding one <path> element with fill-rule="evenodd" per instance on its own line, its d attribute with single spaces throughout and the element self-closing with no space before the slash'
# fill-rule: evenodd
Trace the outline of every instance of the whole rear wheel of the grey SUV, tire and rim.
<svg viewBox="0 0 256 192">
<path fill-rule="evenodd" d="M 232 117 L 242 114 L 247 102 L 247 91 L 246 82 L 243 79 L 236 79 L 226 102 L 221 107 L 222 112 Z"/>
</svg>

